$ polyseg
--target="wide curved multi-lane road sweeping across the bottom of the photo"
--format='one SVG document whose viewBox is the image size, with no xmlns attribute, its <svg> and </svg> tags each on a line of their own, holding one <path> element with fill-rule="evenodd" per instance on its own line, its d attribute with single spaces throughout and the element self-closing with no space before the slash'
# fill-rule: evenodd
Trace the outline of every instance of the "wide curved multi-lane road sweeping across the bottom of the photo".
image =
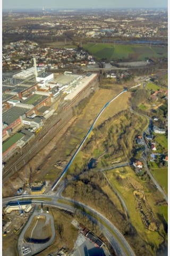
<svg viewBox="0 0 170 256">
<path fill-rule="evenodd" d="M 44 197 L 43 199 L 36 199 L 36 197 Z M 131 249 L 128 242 L 125 240 L 123 235 L 118 231 L 118 229 L 109 221 L 107 220 L 101 213 L 98 211 L 92 209 L 90 206 L 85 205 L 81 202 L 75 201 L 74 199 L 70 198 L 64 198 L 65 203 L 60 203 L 57 201 L 58 198 L 56 198 L 55 193 L 53 195 L 22 195 L 22 196 L 16 196 L 11 198 L 3 198 L 3 206 L 6 205 L 9 201 L 15 201 L 16 205 L 18 205 L 18 202 L 16 201 L 16 198 L 20 200 L 20 202 L 23 202 L 25 199 L 32 198 L 31 203 L 39 205 L 42 202 L 45 205 L 57 207 L 59 209 L 64 209 L 66 211 L 75 212 L 77 210 L 77 207 L 81 207 L 84 214 L 88 216 L 89 219 L 92 221 L 95 221 L 99 224 L 99 227 L 101 227 L 101 230 L 104 232 L 106 238 L 108 239 L 109 243 L 111 243 L 113 249 L 115 250 L 117 256 L 135 256 L 133 250 Z M 22 198 L 22 200 L 21 200 Z M 47 200 L 46 198 L 51 199 L 51 201 Z M 60 198 L 59 198 L 60 199 Z M 27 201 L 25 201 L 27 203 Z M 30 200 L 29 200 L 30 203 Z M 74 207 L 67 204 L 67 203 L 73 203 Z M 75 207 L 77 205 L 77 207 Z M 87 210 L 90 214 L 87 213 Z M 118 239 L 117 239 L 118 238 Z M 121 243 L 120 243 L 121 241 Z M 123 246 L 122 246 L 123 245 Z M 124 250 L 125 248 L 125 250 Z"/>
</svg>

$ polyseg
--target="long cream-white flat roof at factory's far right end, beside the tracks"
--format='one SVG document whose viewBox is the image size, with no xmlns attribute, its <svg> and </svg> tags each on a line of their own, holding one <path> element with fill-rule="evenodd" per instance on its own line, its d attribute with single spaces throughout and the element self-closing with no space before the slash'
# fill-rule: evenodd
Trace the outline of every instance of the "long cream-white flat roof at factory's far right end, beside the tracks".
<svg viewBox="0 0 170 256">
<path fill-rule="evenodd" d="M 90 76 L 86 76 L 84 78 L 82 78 L 79 81 L 79 84 L 77 87 L 74 87 L 72 92 L 69 93 L 64 99 L 65 100 L 72 100 L 81 90 L 83 90 L 84 87 L 86 87 L 90 81 L 95 78 L 97 76 L 97 74 L 91 74 Z"/>
</svg>

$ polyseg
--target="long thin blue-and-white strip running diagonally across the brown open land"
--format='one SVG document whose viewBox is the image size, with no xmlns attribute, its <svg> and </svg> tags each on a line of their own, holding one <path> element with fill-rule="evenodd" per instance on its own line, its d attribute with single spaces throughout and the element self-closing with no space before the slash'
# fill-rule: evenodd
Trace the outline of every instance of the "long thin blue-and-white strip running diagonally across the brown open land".
<svg viewBox="0 0 170 256">
<path fill-rule="evenodd" d="M 65 167 L 64 171 L 62 172 L 60 178 L 58 178 L 58 179 L 56 180 L 56 182 L 54 183 L 54 185 L 53 185 L 53 187 L 52 187 L 52 191 L 55 189 L 55 187 L 58 185 L 58 183 L 61 181 L 62 177 L 63 177 L 64 174 L 66 173 L 66 171 L 69 169 L 69 167 L 70 167 L 71 163 L 73 162 L 75 156 L 78 154 L 80 148 L 83 146 L 84 142 L 85 142 L 86 139 L 88 138 L 88 136 L 89 136 L 91 130 L 93 129 L 95 123 L 97 122 L 99 116 L 103 113 L 103 111 L 104 111 L 105 108 L 109 105 L 109 103 L 111 103 L 112 101 L 114 101 L 118 96 L 120 96 L 122 93 L 124 93 L 124 92 L 126 92 L 126 91 L 127 91 L 127 89 L 125 89 L 125 90 L 123 90 L 122 92 L 118 93 L 115 98 L 113 98 L 111 101 L 108 101 L 108 102 L 106 103 L 106 105 L 103 107 L 103 109 L 101 109 L 100 113 L 97 115 L 95 121 L 92 123 L 92 125 L 91 125 L 89 131 L 87 132 L 86 136 L 84 137 L 83 141 L 81 142 L 80 146 L 79 146 L 78 149 L 75 151 L 75 153 L 73 154 L 73 156 L 72 156 L 70 162 L 67 164 L 67 166 Z"/>
</svg>

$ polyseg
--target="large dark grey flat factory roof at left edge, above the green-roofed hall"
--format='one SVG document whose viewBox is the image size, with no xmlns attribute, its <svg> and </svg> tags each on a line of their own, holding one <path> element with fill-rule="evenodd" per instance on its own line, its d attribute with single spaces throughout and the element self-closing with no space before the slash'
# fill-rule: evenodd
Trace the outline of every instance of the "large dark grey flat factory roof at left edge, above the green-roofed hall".
<svg viewBox="0 0 170 256">
<path fill-rule="evenodd" d="M 28 108 L 13 107 L 2 114 L 2 122 L 10 125 L 29 110 Z"/>
</svg>

